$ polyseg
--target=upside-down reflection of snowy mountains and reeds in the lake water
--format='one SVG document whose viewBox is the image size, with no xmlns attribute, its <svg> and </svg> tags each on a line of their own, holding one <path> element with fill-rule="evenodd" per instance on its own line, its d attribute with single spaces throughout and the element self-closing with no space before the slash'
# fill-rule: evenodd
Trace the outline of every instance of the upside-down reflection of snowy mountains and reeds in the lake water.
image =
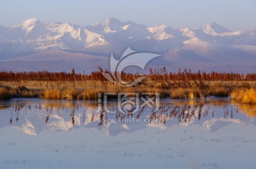
<svg viewBox="0 0 256 169">
<path fill-rule="evenodd" d="M 228 99 L 162 99 L 157 111 L 141 107 L 134 114 L 122 114 L 114 101 L 107 107 L 116 113 L 97 111 L 97 102 L 13 99 L 0 102 L 0 127 L 11 125 L 30 135 L 86 127 L 116 136 L 146 127 L 166 129 L 198 124 L 213 132 L 230 123 L 255 124 L 256 115 L 255 104 L 239 104 Z"/>
</svg>

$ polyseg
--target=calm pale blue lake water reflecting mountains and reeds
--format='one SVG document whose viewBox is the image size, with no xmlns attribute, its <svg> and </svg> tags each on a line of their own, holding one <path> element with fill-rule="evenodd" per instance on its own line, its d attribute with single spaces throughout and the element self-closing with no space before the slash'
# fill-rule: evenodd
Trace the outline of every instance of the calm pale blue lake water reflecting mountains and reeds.
<svg viewBox="0 0 256 169">
<path fill-rule="evenodd" d="M 88 101 L 2 101 L 0 168 L 256 168 L 255 105 L 213 98 L 160 106 L 122 114 Z"/>
</svg>

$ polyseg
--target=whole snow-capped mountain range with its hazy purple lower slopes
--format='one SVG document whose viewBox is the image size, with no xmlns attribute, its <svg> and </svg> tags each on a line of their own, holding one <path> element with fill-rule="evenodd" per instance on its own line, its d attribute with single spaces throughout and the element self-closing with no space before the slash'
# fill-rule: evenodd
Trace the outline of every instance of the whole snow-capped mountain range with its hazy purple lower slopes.
<svg viewBox="0 0 256 169">
<path fill-rule="evenodd" d="M 218 23 L 197 30 L 148 27 L 107 18 L 91 26 L 31 18 L 18 26 L 0 26 L 0 71 L 90 72 L 108 68 L 110 54 L 119 58 L 131 47 L 161 54 L 147 67 L 190 68 L 218 72 L 255 72 L 256 29 L 230 31 Z"/>
</svg>

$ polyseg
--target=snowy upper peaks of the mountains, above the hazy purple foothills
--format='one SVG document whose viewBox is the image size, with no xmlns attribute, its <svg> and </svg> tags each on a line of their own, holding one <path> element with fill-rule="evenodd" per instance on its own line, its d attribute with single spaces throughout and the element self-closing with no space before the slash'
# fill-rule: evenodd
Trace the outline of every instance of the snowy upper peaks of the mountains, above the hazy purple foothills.
<svg viewBox="0 0 256 169">
<path fill-rule="evenodd" d="M 170 48 L 181 48 L 188 43 L 196 44 L 198 48 L 201 42 L 216 45 L 219 43 L 255 45 L 255 35 L 255 30 L 229 31 L 214 22 L 208 23 L 201 29 L 192 30 L 171 28 L 166 24 L 147 27 L 132 21 L 122 22 L 117 18 L 107 18 L 100 23 L 85 27 L 70 23 L 45 23 L 37 18 L 31 18 L 15 28 L 1 27 L 0 42 L 4 45 L 0 45 L 0 53 L 4 53 L 6 55 L 4 57 L 7 58 L 13 50 L 21 49 L 28 52 L 48 49 L 88 51 L 104 49 L 104 52 L 110 52 L 113 48 L 119 50 L 129 45 L 143 50 L 162 52 Z M 9 49 L 10 43 L 15 44 L 14 49 Z"/>
</svg>

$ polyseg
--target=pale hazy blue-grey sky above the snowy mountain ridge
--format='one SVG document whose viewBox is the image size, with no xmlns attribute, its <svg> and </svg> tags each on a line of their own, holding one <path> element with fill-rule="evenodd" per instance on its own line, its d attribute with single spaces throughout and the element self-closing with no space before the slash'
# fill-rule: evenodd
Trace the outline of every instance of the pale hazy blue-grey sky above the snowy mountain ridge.
<svg viewBox="0 0 256 169">
<path fill-rule="evenodd" d="M 115 17 L 147 26 L 200 28 L 215 21 L 231 30 L 256 28 L 256 0 L 0 0 L 0 25 L 28 18 L 80 26 Z"/>
</svg>

